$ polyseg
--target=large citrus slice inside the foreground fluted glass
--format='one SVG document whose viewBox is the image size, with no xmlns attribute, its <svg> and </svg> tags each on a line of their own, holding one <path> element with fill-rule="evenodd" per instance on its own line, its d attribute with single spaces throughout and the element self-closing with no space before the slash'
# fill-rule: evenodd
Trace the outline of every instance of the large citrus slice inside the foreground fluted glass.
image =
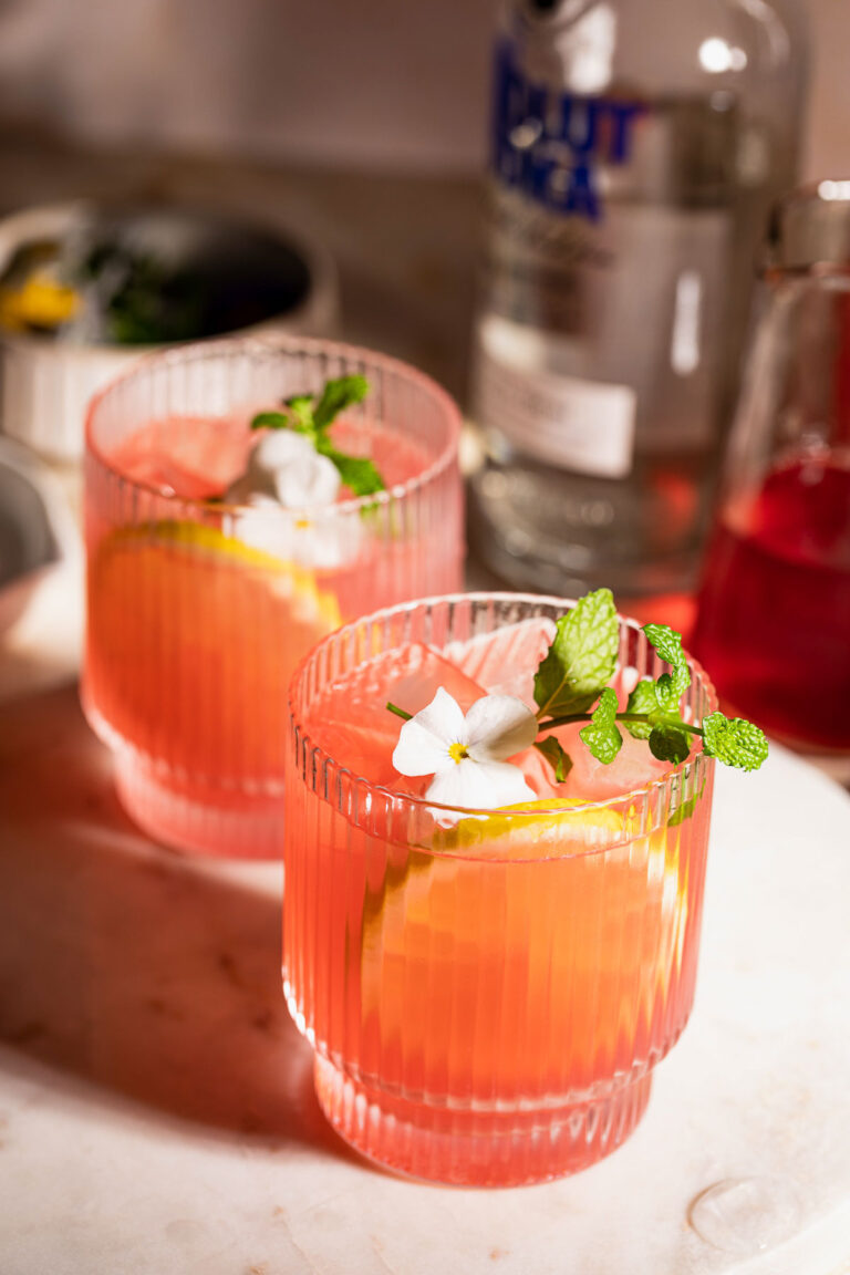
<svg viewBox="0 0 850 1275">
<path fill-rule="evenodd" d="M 675 983 L 687 923 L 678 835 L 635 833 L 547 798 L 387 862 L 363 914 L 363 1067 L 398 1060 L 401 1082 L 410 1060 L 440 1060 L 461 1093 L 502 1068 L 520 1091 L 616 1071 Z"/>
</svg>

